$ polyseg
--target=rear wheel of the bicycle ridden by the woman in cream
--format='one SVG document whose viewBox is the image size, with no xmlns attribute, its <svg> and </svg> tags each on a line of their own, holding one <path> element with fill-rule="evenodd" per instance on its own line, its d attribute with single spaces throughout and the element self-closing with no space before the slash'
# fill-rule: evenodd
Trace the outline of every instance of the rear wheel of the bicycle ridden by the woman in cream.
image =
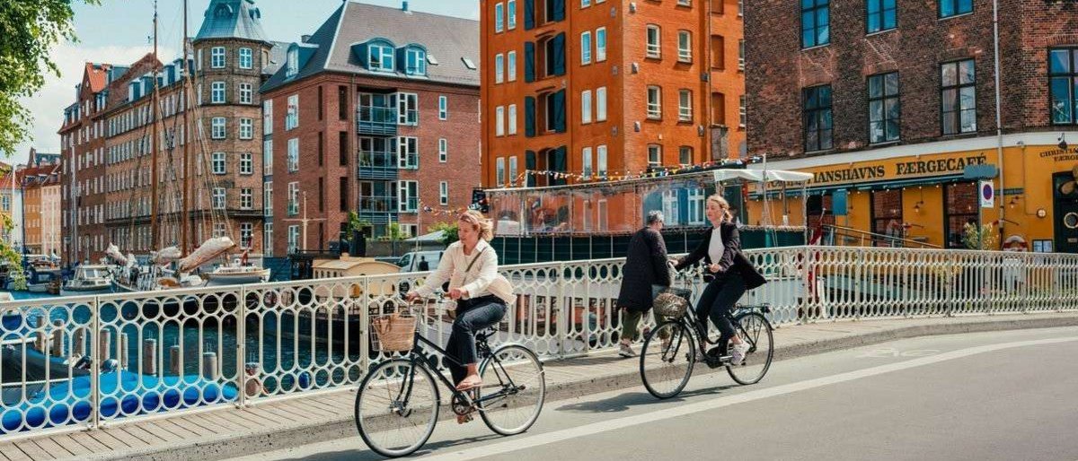
<svg viewBox="0 0 1078 461">
<path fill-rule="evenodd" d="M 520 345 L 496 349 L 480 364 L 480 416 L 492 431 L 514 435 L 539 419 L 547 399 L 547 377 L 535 352 Z"/>
</svg>

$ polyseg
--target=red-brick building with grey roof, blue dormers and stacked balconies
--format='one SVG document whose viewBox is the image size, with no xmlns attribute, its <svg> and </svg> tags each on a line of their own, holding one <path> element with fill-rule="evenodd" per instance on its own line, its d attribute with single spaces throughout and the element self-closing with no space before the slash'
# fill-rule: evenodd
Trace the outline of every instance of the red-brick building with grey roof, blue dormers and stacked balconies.
<svg viewBox="0 0 1078 461">
<path fill-rule="evenodd" d="M 263 85 L 275 255 L 327 248 L 349 212 L 424 234 L 480 185 L 479 25 L 406 4 L 344 2 Z"/>
</svg>

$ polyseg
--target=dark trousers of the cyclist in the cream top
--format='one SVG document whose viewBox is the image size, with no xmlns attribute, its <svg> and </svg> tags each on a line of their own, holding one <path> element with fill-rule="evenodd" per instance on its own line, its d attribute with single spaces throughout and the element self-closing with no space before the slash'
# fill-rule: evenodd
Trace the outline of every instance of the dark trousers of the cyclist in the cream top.
<svg viewBox="0 0 1078 461">
<path fill-rule="evenodd" d="M 494 325 L 506 317 L 506 302 L 494 295 L 457 302 L 457 318 L 453 321 L 453 333 L 445 345 L 445 351 L 459 362 L 446 361 L 453 382 L 468 376 L 466 365 L 478 362 L 475 354 L 475 332 Z"/>
</svg>

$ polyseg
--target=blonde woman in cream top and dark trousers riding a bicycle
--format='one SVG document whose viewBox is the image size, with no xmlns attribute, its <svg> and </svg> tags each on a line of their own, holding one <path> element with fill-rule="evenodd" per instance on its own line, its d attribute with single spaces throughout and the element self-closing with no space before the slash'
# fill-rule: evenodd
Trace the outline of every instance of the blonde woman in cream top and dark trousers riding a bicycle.
<svg viewBox="0 0 1078 461">
<path fill-rule="evenodd" d="M 448 280 L 447 294 L 457 302 L 457 309 L 445 350 L 464 366 L 450 362 L 447 367 L 457 390 L 465 391 L 483 383 L 476 369 L 475 332 L 501 321 L 509 302 L 506 297 L 511 293 L 507 295 L 498 285 L 498 255 L 487 243 L 494 237 L 490 222 L 483 218 L 483 213 L 468 210 L 458 218 L 457 228 L 460 240 L 445 249 L 438 270 L 406 296 L 409 302 L 420 296 L 429 297 Z M 458 417 L 457 421 L 467 422 L 470 419 Z"/>
</svg>

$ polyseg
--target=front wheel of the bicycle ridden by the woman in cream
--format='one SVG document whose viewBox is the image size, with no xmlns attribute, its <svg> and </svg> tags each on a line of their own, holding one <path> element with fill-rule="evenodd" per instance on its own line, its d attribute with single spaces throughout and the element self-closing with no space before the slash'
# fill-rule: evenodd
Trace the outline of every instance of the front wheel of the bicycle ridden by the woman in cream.
<svg viewBox="0 0 1078 461">
<path fill-rule="evenodd" d="M 438 382 L 418 362 L 383 362 L 356 395 L 356 429 L 384 457 L 409 456 L 427 443 L 438 421 Z"/>
</svg>

